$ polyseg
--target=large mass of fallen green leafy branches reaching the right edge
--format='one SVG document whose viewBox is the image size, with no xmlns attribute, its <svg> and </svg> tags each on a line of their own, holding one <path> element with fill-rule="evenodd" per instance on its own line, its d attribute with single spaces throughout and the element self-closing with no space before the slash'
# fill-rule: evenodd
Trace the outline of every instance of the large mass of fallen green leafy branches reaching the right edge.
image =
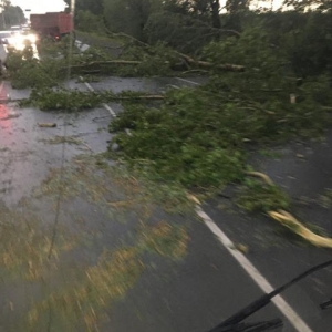
<svg viewBox="0 0 332 332">
<path fill-rule="evenodd" d="M 120 131 L 114 142 L 131 165 L 143 160 L 164 179 L 210 190 L 242 178 L 248 144 L 312 137 L 331 124 L 329 79 L 299 84 L 287 54 L 270 45 L 261 27 L 210 43 L 203 56 L 214 68 L 232 61 L 246 70 L 212 71 L 206 85 L 172 91 L 160 107 L 125 105 L 111 129 Z"/>
</svg>

